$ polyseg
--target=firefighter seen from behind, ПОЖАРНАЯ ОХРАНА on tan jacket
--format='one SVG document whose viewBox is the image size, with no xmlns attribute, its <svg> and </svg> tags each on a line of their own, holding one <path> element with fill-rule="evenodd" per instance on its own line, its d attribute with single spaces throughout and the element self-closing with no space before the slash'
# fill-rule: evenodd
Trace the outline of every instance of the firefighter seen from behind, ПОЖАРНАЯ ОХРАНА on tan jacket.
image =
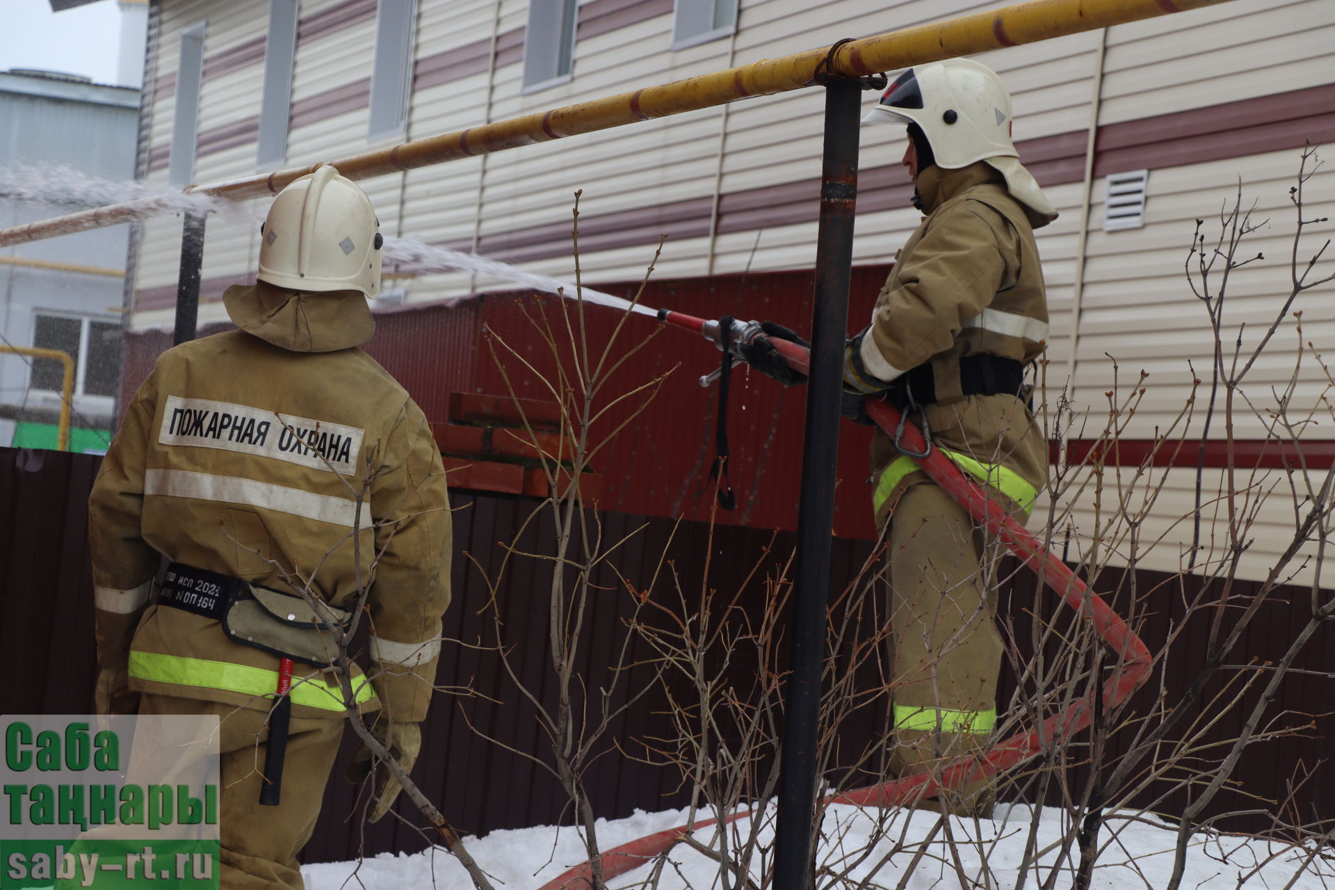
<svg viewBox="0 0 1335 890">
<path fill-rule="evenodd" d="M 262 228 L 259 280 L 223 295 L 240 330 L 158 359 L 89 498 L 99 711 L 219 715 L 227 890 L 302 887 L 296 853 L 347 713 L 322 664 L 359 588 L 371 636 L 355 707 L 378 710 L 372 731 L 406 767 L 421 747 L 450 512 L 426 418 L 356 348 L 374 330 L 378 226 L 332 167 L 284 188 Z M 171 566 L 151 596 L 159 554 Z M 266 721 L 280 710 L 286 765 L 262 775 Z M 370 774 L 374 821 L 399 787 L 364 747 L 354 771 Z M 275 779 L 276 806 L 262 805 Z"/>
</svg>

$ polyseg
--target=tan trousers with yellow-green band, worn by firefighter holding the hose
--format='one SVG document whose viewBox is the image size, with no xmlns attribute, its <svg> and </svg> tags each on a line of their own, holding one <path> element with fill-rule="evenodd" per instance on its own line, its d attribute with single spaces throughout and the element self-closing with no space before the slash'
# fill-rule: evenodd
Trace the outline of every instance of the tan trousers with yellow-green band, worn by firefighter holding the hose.
<svg viewBox="0 0 1335 890">
<path fill-rule="evenodd" d="M 1001 551 L 934 483 L 900 494 L 886 542 L 896 775 L 987 746 L 1003 654 L 991 590 Z M 992 799 L 992 782 L 977 779 L 930 809 L 988 815 Z"/>
</svg>

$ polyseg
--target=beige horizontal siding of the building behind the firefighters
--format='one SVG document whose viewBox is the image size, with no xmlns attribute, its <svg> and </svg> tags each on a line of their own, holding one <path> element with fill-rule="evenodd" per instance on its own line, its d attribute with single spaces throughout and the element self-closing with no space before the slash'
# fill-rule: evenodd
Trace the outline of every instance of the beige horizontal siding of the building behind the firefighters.
<svg viewBox="0 0 1335 890">
<path fill-rule="evenodd" d="M 594 1 L 587 0 L 583 5 Z M 254 40 L 267 25 L 264 0 L 162 0 L 162 5 L 159 75 L 175 71 L 179 33 L 200 19 L 208 19 L 206 56 Z M 338 5 L 338 0 L 303 0 L 300 15 L 304 20 Z M 419 0 L 415 59 L 469 47 L 475 49 L 479 43 L 493 40 L 499 40 L 502 49 L 511 48 L 502 52 L 494 71 L 474 71 L 417 89 L 410 100 L 410 139 L 1001 4 L 741 0 L 734 36 L 680 51 L 670 48 L 672 13 L 663 5 L 650 4 L 643 8 L 657 15 L 581 39 L 574 52 L 574 73 L 567 83 L 525 93 L 521 89 L 522 53 L 513 47 L 518 45 L 517 32 L 526 25 L 527 5 L 527 0 Z M 368 79 L 374 37 L 374 17 L 363 17 L 352 25 L 303 40 L 296 52 L 292 88 L 296 107 L 303 101 L 308 107 L 315 96 L 339 88 L 352 89 Z M 1292 236 L 1287 189 L 1294 181 L 1298 156 L 1295 151 L 1276 151 L 1179 165 L 1147 161 L 1153 169 L 1145 227 L 1120 232 L 1101 231 L 1104 179 L 1099 176 L 1089 185 L 1089 226 L 1081 238 L 1085 183 L 1080 180 L 1079 155 L 1084 133 L 1095 121 L 1100 127 L 1133 127 L 1133 121 L 1144 117 L 1335 83 L 1331 47 L 1335 47 L 1335 4 L 1328 0 L 1236 0 L 1120 25 L 1105 33 L 1076 35 L 980 56 L 1001 72 L 1012 89 L 1015 136 L 1021 145 L 1033 140 L 1051 143 L 1061 135 L 1071 135 L 1067 144 L 1076 145 L 1068 151 L 1069 163 L 1061 181 L 1047 188 L 1061 216 L 1040 230 L 1039 246 L 1052 324 L 1045 368 L 1049 399 L 1055 400 L 1056 391 L 1073 370 L 1071 392 L 1079 422 L 1087 428 L 1101 426 L 1105 414 L 1103 394 L 1113 382 L 1112 363 L 1105 354 L 1117 362 L 1117 379 L 1124 387 L 1141 370 L 1149 374 L 1145 394 L 1127 423 L 1124 435 L 1131 438 L 1153 438 L 1156 430 L 1163 430 L 1176 416 L 1189 396 L 1192 371 L 1188 360 L 1197 375 L 1208 371 L 1212 347 L 1207 316 L 1191 295 L 1183 263 L 1195 220 L 1218 220 L 1220 205 L 1234 197 L 1239 181 L 1248 205 L 1256 201 L 1254 215 L 1270 219 L 1270 226 L 1256 232 L 1247 248 L 1264 252 L 1267 260 L 1234 274 L 1226 310 L 1226 340 L 1232 342 L 1243 322 L 1247 324 L 1244 344 L 1255 342 L 1268 326 L 1276 300 L 1287 292 L 1287 260 L 1283 258 Z M 463 55 L 478 57 L 475 51 Z M 262 61 L 210 77 L 202 99 L 202 131 L 256 115 L 262 79 Z M 874 95 L 868 93 L 864 101 L 869 107 Z M 162 96 L 154 108 L 152 147 L 170 141 L 172 112 L 174 96 Z M 579 208 L 586 224 L 607 213 L 696 201 L 690 227 L 665 243 L 658 275 L 801 268 L 814 260 L 814 207 L 806 216 L 785 216 L 766 207 L 748 215 L 736 211 L 728 196 L 793 183 L 813 184 L 820 175 L 821 117 L 820 92 L 800 91 L 384 176 L 364 185 L 387 234 L 463 250 L 479 238 L 486 246 L 510 232 L 565 227 L 575 189 L 582 189 Z M 1247 127 L 1246 120 L 1238 124 Z M 288 161 L 311 163 L 364 151 L 366 129 L 364 103 L 323 120 L 300 123 L 288 139 Z M 1220 139 L 1227 136 L 1223 133 Z M 902 131 L 865 128 L 861 144 L 861 164 L 869 176 L 865 181 L 897 169 L 904 149 Z M 1145 156 L 1152 157 L 1153 148 L 1148 148 Z M 200 181 L 254 173 L 254 144 L 206 153 L 196 171 Z M 166 175 L 163 167 L 150 179 L 166 181 Z M 1326 201 L 1314 201 L 1310 215 L 1335 216 L 1330 212 L 1335 209 L 1330 207 L 1335 173 L 1319 173 L 1308 183 L 1308 191 L 1324 196 Z M 724 196 L 722 231 L 712 228 L 710 208 L 716 196 Z M 801 204 L 800 197 L 796 201 Z M 206 279 L 254 271 L 255 231 L 264 204 L 256 201 L 238 212 L 211 217 Z M 864 204 L 857 220 L 854 262 L 888 262 L 917 224 L 918 215 L 908 207 L 877 203 L 874 189 L 864 193 Z M 651 213 L 639 219 L 647 220 L 635 223 L 646 230 L 641 243 L 601 248 L 597 240 L 586 240 L 581 256 L 586 282 L 638 279 L 643 274 L 654 252 L 655 231 Z M 138 287 L 170 286 L 176 278 L 180 220 L 152 220 L 147 231 Z M 526 238 L 527 234 L 511 244 L 525 243 Z M 573 258 L 561 250 L 559 240 L 551 244 L 547 252 L 554 255 L 522 266 L 569 279 Z M 1077 282 L 1081 263 L 1084 276 Z M 392 267 L 388 271 L 392 272 Z M 497 284 L 467 274 L 442 272 L 391 276 L 386 287 L 405 291 L 411 302 L 422 302 Z M 1330 343 L 1335 339 L 1335 320 L 1319 311 L 1320 299 L 1318 294 L 1300 298 L 1295 308 L 1306 310 L 1303 338 Z M 202 319 L 215 318 L 222 318 L 222 308 L 216 303 L 206 304 Z M 170 322 L 170 310 L 140 311 L 135 316 L 138 326 Z M 850 323 L 858 326 L 862 319 Z M 1282 384 L 1292 374 L 1298 343 L 1294 322 L 1283 322 L 1271 355 L 1260 360 L 1248 378 L 1248 394 L 1256 411 L 1244 408 L 1238 414 L 1238 436 L 1264 435 L 1264 410 L 1272 403 L 1270 387 Z M 1299 399 L 1319 398 L 1324 376 L 1314 362 L 1306 360 L 1299 378 Z M 1184 435 L 1199 435 L 1202 426 L 1197 408 L 1189 424 L 1183 426 Z M 1327 423 L 1307 435 L 1330 435 L 1328 428 Z M 1216 422 L 1214 432 L 1218 431 Z M 1210 492 L 1218 494 L 1220 482 L 1218 472 L 1207 476 L 1206 499 L 1210 500 Z M 1161 534 L 1163 542 L 1145 558 L 1147 566 L 1172 568 L 1177 564 L 1183 542 L 1191 540 L 1191 532 L 1188 528 L 1183 536 L 1180 523 L 1175 526 L 1173 519 L 1183 515 L 1193 499 L 1193 471 L 1167 474 L 1145 524 L 1155 535 Z M 1260 507 L 1258 527 L 1263 534 L 1244 558 L 1251 575 L 1264 574 L 1267 559 L 1283 548 L 1282 528 L 1292 515 L 1291 502 L 1292 496 L 1280 486 Z M 1071 514 L 1083 535 L 1077 535 L 1083 547 L 1096 538 L 1097 523 L 1091 504 L 1092 500 L 1081 499 Z"/>
</svg>

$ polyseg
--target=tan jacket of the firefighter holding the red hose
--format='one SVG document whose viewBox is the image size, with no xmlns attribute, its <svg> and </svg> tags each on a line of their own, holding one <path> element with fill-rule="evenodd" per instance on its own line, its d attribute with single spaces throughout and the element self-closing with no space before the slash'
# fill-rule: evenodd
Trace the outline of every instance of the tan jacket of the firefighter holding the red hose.
<svg viewBox="0 0 1335 890">
<path fill-rule="evenodd" d="M 936 403 L 924 414 L 933 444 L 1028 511 L 1047 475 L 1047 444 L 1019 398 L 965 396 L 960 359 L 992 354 L 1027 364 L 1043 354 L 1048 307 L 1033 228 L 1051 217 L 1012 197 L 983 161 L 928 167 L 917 189 L 926 217 L 896 255 L 860 358 L 886 382 L 930 363 Z M 878 523 L 893 495 L 925 478 L 880 430 L 872 474 Z"/>
</svg>

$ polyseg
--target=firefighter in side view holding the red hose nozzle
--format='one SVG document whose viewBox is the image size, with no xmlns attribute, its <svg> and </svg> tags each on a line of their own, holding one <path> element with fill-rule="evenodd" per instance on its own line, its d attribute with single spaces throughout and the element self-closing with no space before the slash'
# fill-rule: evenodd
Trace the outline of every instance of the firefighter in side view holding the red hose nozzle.
<svg viewBox="0 0 1335 890">
<path fill-rule="evenodd" d="M 870 324 L 845 347 L 844 415 L 869 423 L 865 399 L 890 399 L 1023 522 L 1048 456 L 1024 382 L 1048 336 L 1033 230 L 1057 213 L 1020 164 L 1009 92 L 969 59 L 916 65 L 862 123 L 908 127 L 902 163 L 924 219 Z M 746 352 L 766 372 L 782 363 L 765 338 Z M 884 431 L 870 463 L 876 520 L 889 523 L 892 762 L 902 777 L 985 749 L 1003 655 L 993 591 L 1003 548 Z M 924 803 L 988 815 L 993 799 L 991 781 L 973 781 Z"/>
</svg>

